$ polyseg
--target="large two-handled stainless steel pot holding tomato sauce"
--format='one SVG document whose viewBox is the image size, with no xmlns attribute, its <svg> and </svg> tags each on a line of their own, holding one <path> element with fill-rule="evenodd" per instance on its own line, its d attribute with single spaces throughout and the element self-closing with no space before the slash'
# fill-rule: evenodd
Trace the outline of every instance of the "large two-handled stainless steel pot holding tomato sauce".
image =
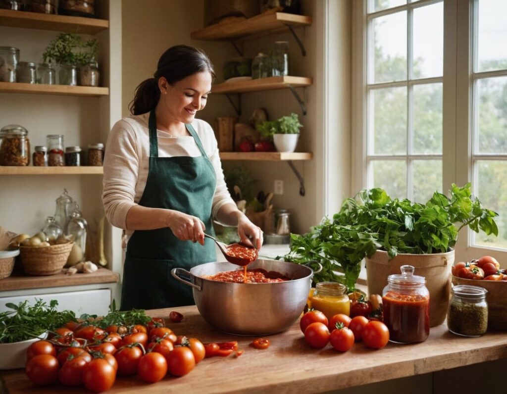
<svg viewBox="0 0 507 394">
<path fill-rule="evenodd" d="M 318 263 L 315 263 L 318 264 Z M 318 271 L 322 269 L 322 266 Z M 291 327 L 303 311 L 313 270 L 278 260 L 257 260 L 250 268 L 276 271 L 292 280 L 275 283 L 231 283 L 206 276 L 238 269 L 231 263 L 206 263 L 189 271 L 174 268 L 171 275 L 192 286 L 202 317 L 215 329 L 237 335 L 268 335 Z"/>
</svg>

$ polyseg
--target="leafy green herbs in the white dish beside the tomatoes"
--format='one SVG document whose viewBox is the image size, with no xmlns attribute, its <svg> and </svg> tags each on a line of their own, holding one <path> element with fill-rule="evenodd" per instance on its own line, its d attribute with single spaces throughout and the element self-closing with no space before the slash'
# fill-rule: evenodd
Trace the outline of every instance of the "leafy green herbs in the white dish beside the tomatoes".
<svg viewBox="0 0 507 394">
<path fill-rule="evenodd" d="M 51 300 L 49 305 L 41 299 L 33 306 L 28 301 L 18 305 L 7 303 L 12 311 L 0 313 L 0 343 L 12 343 L 37 338 L 46 331 L 53 331 L 69 321 L 76 321 L 74 312 L 57 311 L 58 301 Z"/>
</svg>

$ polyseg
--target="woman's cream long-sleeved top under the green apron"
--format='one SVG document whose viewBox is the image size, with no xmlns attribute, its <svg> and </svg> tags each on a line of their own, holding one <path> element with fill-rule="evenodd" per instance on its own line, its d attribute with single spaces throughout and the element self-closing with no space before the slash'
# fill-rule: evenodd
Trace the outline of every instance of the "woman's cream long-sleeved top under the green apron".
<svg viewBox="0 0 507 394">
<path fill-rule="evenodd" d="M 146 180 L 150 159 L 150 134 L 148 119 L 150 113 L 133 115 L 116 122 L 107 138 L 104 155 L 104 178 L 102 202 L 107 220 L 116 227 L 126 230 L 128 210 L 139 203 Z M 216 174 L 216 188 L 213 196 L 211 217 L 224 204 L 234 204 L 224 179 L 218 144 L 211 126 L 200 119 L 192 122 L 201 144 Z M 157 130 L 159 157 L 201 156 L 194 137 L 191 135 L 173 137 Z M 134 231 L 126 230 L 127 237 Z"/>
</svg>

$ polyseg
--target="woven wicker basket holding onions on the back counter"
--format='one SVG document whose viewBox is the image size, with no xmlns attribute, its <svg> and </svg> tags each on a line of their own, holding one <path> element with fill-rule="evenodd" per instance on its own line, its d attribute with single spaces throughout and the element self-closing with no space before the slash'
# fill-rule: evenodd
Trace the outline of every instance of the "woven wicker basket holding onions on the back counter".
<svg viewBox="0 0 507 394">
<path fill-rule="evenodd" d="M 74 242 L 51 246 L 20 246 L 21 264 L 28 275 L 54 275 L 67 262 Z"/>
</svg>

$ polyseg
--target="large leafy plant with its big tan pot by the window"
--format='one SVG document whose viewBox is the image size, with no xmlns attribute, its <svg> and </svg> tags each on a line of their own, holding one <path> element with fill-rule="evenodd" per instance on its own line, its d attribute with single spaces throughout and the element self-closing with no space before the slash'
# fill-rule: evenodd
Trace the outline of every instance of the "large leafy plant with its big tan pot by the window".
<svg viewBox="0 0 507 394">
<path fill-rule="evenodd" d="M 291 234 L 285 260 L 318 261 L 324 269 L 316 281 L 339 281 L 353 289 L 366 258 L 370 294 L 382 294 L 387 276 L 399 274 L 402 265 L 415 266 L 430 292 L 430 326 L 437 326 L 447 313 L 458 231 L 468 226 L 498 235 L 496 216 L 472 198 L 469 183 L 453 184 L 450 197 L 435 192 L 425 204 L 391 199 L 382 189 L 363 190 L 346 199 L 333 220 L 324 219 L 308 234 Z"/>
</svg>

